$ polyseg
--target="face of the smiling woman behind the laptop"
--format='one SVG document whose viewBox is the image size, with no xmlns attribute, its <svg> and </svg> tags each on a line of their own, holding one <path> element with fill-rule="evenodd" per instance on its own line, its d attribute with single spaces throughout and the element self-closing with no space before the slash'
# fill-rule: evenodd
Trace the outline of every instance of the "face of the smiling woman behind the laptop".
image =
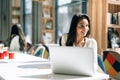
<svg viewBox="0 0 120 80">
<path fill-rule="evenodd" d="M 77 36 L 84 37 L 84 36 L 86 36 L 88 31 L 89 31 L 88 20 L 87 19 L 80 20 L 77 24 L 77 27 L 76 27 Z"/>
</svg>

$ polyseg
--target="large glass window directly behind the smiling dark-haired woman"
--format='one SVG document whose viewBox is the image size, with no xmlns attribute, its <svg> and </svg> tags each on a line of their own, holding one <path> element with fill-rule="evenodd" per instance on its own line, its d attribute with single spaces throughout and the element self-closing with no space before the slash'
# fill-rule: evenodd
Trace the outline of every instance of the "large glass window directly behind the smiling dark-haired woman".
<svg viewBox="0 0 120 80">
<path fill-rule="evenodd" d="M 87 0 L 58 0 L 57 5 L 57 41 L 63 33 L 68 33 L 72 16 L 75 13 L 88 14 Z"/>
</svg>

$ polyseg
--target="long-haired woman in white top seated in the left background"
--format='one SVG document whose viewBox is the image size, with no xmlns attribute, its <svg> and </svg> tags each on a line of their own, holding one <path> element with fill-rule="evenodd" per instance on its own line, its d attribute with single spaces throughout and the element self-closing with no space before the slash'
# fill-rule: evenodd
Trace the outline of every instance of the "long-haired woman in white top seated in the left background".
<svg viewBox="0 0 120 80">
<path fill-rule="evenodd" d="M 25 50 L 25 36 L 20 24 L 15 24 L 12 26 L 10 41 L 9 41 L 10 51 L 24 51 Z"/>
</svg>

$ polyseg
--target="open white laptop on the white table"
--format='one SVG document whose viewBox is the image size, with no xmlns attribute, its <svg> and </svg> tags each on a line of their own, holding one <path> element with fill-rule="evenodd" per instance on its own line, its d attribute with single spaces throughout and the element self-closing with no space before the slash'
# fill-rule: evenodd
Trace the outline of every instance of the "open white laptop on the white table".
<svg viewBox="0 0 120 80">
<path fill-rule="evenodd" d="M 49 47 L 53 73 L 93 76 L 97 68 L 97 54 L 92 48 Z"/>
</svg>

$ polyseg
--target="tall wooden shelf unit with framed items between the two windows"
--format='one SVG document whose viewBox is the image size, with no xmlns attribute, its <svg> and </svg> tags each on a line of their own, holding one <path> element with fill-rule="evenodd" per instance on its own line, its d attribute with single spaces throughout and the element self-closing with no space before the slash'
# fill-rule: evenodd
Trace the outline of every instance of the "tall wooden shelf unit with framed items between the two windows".
<svg viewBox="0 0 120 80">
<path fill-rule="evenodd" d="M 54 43 L 54 0 L 42 2 L 42 36 L 45 43 Z"/>
</svg>

